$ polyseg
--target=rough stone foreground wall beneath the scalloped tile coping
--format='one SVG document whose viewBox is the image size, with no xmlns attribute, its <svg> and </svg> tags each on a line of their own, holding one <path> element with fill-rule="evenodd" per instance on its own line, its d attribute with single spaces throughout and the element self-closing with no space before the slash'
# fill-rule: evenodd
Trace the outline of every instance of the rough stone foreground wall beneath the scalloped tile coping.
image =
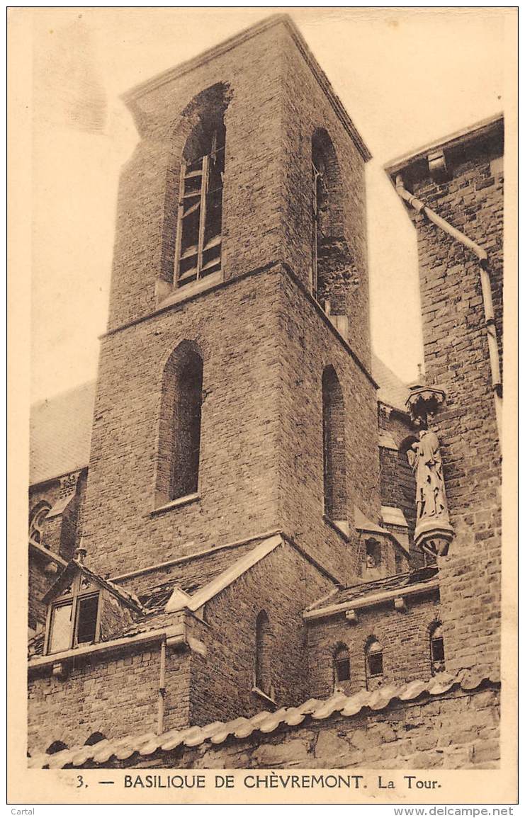
<svg viewBox="0 0 525 818">
<path fill-rule="evenodd" d="M 497 769 L 500 759 L 499 690 L 481 687 L 431 699 L 396 701 L 379 712 L 339 713 L 269 735 L 227 739 L 213 746 L 179 746 L 150 757 L 134 753 L 112 766 L 170 769 L 282 768 L 424 770 Z M 107 765 L 106 765 L 107 766 Z M 298 770 L 298 774 L 300 775 Z M 346 774 L 346 773 L 345 773 Z"/>
</svg>

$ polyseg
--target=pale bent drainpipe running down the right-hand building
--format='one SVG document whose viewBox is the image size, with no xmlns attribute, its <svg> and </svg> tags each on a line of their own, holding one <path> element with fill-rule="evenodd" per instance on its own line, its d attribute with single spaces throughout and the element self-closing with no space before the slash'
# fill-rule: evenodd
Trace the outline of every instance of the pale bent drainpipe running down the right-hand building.
<svg viewBox="0 0 525 818">
<path fill-rule="evenodd" d="M 488 272 L 487 251 L 480 247 L 480 245 L 476 244 L 475 241 L 469 239 L 468 236 L 465 236 L 464 233 L 462 233 L 456 227 L 452 227 L 452 225 L 447 222 L 446 219 L 438 216 L 432 208 L 429 208 L 428 205 L 425 205 L 424 202 L 417 199 L 416 196 L 413 196 L 409 191 L 407 191 L 403 183 L 401 173 L 398 173 L 396 177 L 396 191 L 397 195 L 400 196 L 407 205 L 410 205 L 411 208 L 415 209 L 416 213 L 424 213 L 424 215 L 429 219 L 429 222 L 433 222 L 433 224 L 439 227 L 440 230 L 447 233 L 461 245 L 464 245 L 464 247 L 469 249 L 476 256 L 476 258 L 478 258 L 479 277 L 482 288 L 483 312 L 485 316 L 485 330 L 487 332 L 488 353 L 491 364 L 492 392 L 494 394 L 494 407 L 496 409 L 496 426 L 498 430 L 498 438 L 501 440 L 503 383 L 501 380 L 500 353 L 498 349 L 496 321 L 494 318 L 494 305 L 492 303 L 491 277 Z"/>
</svg>

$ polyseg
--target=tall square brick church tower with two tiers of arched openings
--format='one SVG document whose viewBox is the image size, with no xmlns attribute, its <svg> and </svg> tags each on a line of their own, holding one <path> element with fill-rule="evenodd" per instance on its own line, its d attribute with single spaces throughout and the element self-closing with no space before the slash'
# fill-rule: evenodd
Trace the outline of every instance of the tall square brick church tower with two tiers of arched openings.
<svg viewBox="0 0 525 818">
<path fill-rule="evenodd" d="M 380 509 L 366 146 L 285 16 L 124 98 L 88 563 L 278 531 L 348 582 Z"/>
</svg>

